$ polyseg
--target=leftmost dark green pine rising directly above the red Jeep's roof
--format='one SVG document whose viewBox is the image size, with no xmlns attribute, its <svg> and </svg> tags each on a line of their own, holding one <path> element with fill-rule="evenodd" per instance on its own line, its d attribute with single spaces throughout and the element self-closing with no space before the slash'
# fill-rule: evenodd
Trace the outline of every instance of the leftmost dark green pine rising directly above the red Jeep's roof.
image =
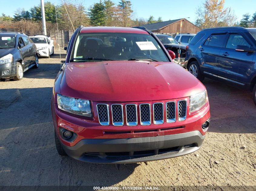
<svg viewBox="0 0 256 191">
<path fill-rule="evenodd" d="M 93 26 L 104 26 L 106 23 L 105 6 L 100 0 L 99 3 L 95 3 L 88 9 L 88 16 Z"/>
</svg>

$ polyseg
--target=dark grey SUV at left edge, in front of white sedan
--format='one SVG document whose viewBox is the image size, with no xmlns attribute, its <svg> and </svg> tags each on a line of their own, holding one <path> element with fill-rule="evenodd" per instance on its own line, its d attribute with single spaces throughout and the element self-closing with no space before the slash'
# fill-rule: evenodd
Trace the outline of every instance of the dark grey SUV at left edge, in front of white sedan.
<svg viewBox="0 0 256 191">
<path fill-rule="evenodd" d="M 23 72 L 38 68 L 38 53 L 32 40 L 23 33 L 0 32 L 0 78 L 21 80 Z"/>
</svg>

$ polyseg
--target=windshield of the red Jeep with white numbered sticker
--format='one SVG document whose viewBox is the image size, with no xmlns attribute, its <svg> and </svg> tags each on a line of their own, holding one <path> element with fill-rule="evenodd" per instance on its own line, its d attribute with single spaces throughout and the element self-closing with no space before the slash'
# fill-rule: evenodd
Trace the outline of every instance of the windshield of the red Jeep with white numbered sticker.
<svg viewBox="0 0 256 191">
<path fill-rule="evenodd" d="M 169 62 L 161 46 L 150 34 L 80 33 L 70 62 L 104 60 L 147 60 Z"/>
</svg>

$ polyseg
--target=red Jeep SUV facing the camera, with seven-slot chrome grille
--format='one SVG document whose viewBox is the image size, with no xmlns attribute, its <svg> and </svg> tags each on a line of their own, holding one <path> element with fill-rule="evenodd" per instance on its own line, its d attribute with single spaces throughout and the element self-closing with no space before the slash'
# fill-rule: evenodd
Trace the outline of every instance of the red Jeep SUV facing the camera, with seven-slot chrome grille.
<svg viewBox="0 0 256 191">
<path fill-rule="evenodd" d="M 58 153 L 135 163 L 198 150 L 210 124 L 207 92 L 170 54 L 143 27 L 76 29 L 52 94 Z"/>
</svg>

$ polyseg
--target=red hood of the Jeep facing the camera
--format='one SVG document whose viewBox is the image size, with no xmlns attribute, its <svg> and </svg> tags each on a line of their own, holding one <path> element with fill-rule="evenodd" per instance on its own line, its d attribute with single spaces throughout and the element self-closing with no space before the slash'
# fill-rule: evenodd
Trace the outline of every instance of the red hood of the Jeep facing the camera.
<svg viewBox="0 0 256 191">
<path fill-rule="evenodd" d="M 167 100 L 202 90 L 178 64 L 145 61 L 67 63 L 60 85 L 62 95 L 110 102 Z"/>
</svg>

